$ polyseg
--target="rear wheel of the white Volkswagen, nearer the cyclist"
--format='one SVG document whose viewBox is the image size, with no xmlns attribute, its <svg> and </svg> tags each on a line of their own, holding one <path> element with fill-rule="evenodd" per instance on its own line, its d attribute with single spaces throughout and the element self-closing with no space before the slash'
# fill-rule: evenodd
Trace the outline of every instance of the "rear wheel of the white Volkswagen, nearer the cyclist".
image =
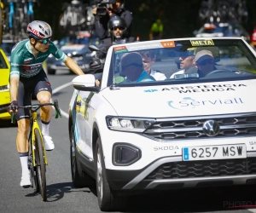
<svg viewBox="0 0 256 213">
<path fill-rule="evenodd" d="M 90 187 L 94 184 L 93 178 L 86 174 L 76 156 L 76 142 L 74 139 L 73 126 L 70 130 L 70 164 L 74 187 Z"/>
</svg>

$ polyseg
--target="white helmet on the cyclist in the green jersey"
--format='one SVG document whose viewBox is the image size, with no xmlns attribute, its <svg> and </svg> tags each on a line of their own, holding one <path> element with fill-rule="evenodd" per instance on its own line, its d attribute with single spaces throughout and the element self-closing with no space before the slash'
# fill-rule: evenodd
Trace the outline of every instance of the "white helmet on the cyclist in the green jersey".
<svg viewBox="0 0 256 213">
<path fill-rule="evenodd" d="M 35 39 L 44 39 L 52 36 L 52 30 L 49 24 L 42 20 L 33 20 L 26 27 L 28 37 Z"/>
</svg>

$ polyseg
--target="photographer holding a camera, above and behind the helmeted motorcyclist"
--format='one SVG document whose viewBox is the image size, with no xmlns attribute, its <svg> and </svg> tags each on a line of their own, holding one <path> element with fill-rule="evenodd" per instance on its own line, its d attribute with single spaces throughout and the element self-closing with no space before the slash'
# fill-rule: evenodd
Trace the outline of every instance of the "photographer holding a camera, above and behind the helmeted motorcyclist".
<svg viewBox="0 0 256 213">
<path fill-rule="evenodd" d="M 96 35 L 102 40 L 109 37 L 108 20 L 114 16 L 119 16 L 125 20 L 127 26 L 127 36 L 131 35 L 132 14 L 125 9 L 125 0 L 95 0 L 98 4 L 93 9 L 95 15 Z"/>
</svg>

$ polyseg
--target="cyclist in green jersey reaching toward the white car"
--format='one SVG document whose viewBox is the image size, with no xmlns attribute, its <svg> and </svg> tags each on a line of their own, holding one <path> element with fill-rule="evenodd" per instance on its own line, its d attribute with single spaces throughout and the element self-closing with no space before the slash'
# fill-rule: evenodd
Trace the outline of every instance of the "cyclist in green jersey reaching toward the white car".
<svg viewBox="0 0 256 213">
<path fill-rule="evenodd" d="M 49 24 L 41 20 L 34 20 L 28 24 L 26 33 L 28 39 L 16 43 L 11 52 L 10 68 L 10 98 L 9 113 L 15 113 L 18 123 L 16 138 L 17 151 L 20 153 L 22 176 L 21 187 L 31 186 L 30 172 L 27 168 L 28 141 L 26 135 L 29 130 L 29 112 L 19 106 L 31 104 L 33 93 L 40 104 L 49 103 L 51 99 L 51 85 L 42 67 L 44 60 L 52 54 L 77 75 L 84 72 L 61 49 L 57 49 L 50 41 L 52 30 Z M 40 118 L 42 121 L 42 134 L 46 150 L 53 150 L 55 145 L 49 135 L 49 122 L 52 116 L 52 107 L 42 107 Z"/>
</svg>

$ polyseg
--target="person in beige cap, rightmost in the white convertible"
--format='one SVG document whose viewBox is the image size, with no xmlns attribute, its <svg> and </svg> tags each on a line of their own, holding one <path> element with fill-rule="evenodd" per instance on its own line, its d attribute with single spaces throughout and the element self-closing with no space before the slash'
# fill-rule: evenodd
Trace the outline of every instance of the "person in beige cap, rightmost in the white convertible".
<svg viewBox="0 0 256 213">
<path fill-rule="evenodd" d="M 198 74 L 200 77 L 205 77 L 209 72 L 217 70 L 214 66 L 212 52 L 206 49 L 196 53 L 195 64 L 198 67 Z"/>
</svg>

